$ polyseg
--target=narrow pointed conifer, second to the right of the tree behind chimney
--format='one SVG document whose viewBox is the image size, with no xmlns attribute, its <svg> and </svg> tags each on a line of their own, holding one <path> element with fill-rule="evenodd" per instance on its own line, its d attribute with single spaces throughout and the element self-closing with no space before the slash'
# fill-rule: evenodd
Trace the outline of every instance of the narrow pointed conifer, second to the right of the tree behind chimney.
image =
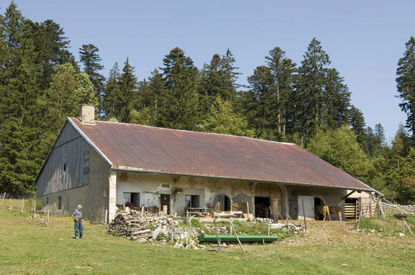
<svg viewBox="0 0 415 275">
<path fill-rule="evenodd" d="M 130 122 L 130 112 L 132 103 L 136 97 L 137 78 L 134 76 L 134 67 L 127 60 L 124 63 L 123 74 L 120 76 L 121 87 L 121 104 L 120 104 L 120 122 Z"/>
</svg>

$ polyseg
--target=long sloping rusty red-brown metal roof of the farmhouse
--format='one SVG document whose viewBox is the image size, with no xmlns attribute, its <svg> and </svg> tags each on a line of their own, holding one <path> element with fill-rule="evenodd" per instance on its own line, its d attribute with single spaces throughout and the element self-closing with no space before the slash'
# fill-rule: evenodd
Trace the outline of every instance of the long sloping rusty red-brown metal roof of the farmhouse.
<svg viewBox="0 0 415 275">
<path fill-rule="evenodd" d="M 68 119 L 114 169 L 373 191 L 296 144 Z"/>
</svg>

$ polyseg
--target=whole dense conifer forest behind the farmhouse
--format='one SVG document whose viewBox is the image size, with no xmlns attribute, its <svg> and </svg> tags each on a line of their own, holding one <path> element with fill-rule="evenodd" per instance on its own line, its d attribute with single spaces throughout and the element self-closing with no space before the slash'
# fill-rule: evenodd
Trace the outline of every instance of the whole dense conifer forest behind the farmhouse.
<svg viewBox="0 0 415 275">
<path fill-rule="evenodd" d="M 389 201 L 415 203 L 414 37 L 402 45 L 391 91 L 407 119 L 386 140 L 382 124 L 366 124 L 352 105 L 318 38 L 304 44 L 299 64 L 276 44 L 249 76 L 238 72 L 232 49 L 196 67 L 179 47 L 160 56 L 162 66 L 148 78 L 127 56 L 103 75 L 99 45 L 71 49 L 58 22 L 33 22 L 13 1 L 1 12 L 0 192 L 36 190 L 33 180 L 66 117 L 78 117 L 86 103 L 97 120 L 293 142 Z"/>
</svg>

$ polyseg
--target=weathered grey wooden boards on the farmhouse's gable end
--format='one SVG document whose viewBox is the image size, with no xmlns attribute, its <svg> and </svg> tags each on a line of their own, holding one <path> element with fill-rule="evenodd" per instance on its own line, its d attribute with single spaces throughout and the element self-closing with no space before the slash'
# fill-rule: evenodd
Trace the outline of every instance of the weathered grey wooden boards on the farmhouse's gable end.
<svg viewBox="0 0 415 275">
<path fill-rule="evenodd" d="M 65 123 L 37 182 L 38 197 L 89 183 L 91 146 Z"/>
</svg>

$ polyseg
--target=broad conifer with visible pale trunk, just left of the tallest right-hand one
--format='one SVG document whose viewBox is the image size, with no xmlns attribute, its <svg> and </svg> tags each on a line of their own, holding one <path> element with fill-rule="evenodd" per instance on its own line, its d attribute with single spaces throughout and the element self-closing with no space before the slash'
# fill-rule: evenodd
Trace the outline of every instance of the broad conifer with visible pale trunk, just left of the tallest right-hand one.
<svg viewBox="0 0 415 275">
<path fill-rule="evenodd" d="M 295 63 L 279 47 L 269 51 L 265 59 L 267 65 L 258 66 L 248 78 L 251 90 L 242 97 L 244 114 L 258 138 L 285 140 L 287 125 L 292 122 Z"/>
</svg>

